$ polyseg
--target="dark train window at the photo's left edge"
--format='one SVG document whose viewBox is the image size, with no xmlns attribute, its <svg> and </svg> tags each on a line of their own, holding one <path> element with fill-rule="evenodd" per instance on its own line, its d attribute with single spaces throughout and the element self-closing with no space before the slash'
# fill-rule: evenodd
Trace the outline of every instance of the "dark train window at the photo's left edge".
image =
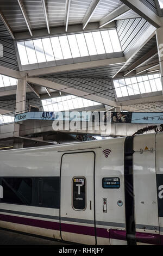
<svg viewBox="0 0 163 256">
<path fill-rule="evenodd" d="M 1 178 L 2 203 L 30 205 L 32 202 L 32 179 Z"/>
</svg>

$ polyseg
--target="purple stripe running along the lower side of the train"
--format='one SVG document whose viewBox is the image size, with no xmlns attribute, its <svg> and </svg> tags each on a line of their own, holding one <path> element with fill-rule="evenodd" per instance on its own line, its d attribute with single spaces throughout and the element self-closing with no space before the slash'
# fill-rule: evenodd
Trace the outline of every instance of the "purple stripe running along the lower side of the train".
<svg viewBox="0 0 163 256">
<path fill-rule="evenodd" d="M 26 217 L 18 217 L 12 215 L 0 214 L 0 220 L 12 222 L 23 225 L 30 225 L 32 227 L 60 230 L 59 222 L 42 221 Z M 74 234 L 95 236 L 95 228 L 83 225 L 73 225 L 61 223 L 61 231 L 71 232 Z M 105 237 L 110 239 L 126 240 L 126 230 L 116 230 L 106 228 L 96 228 L 96 235 L 98 237 Z M 136 241 L 141 243 L 149 243 L 152 245 L 163 245 L 163 236 L 158 234 L 136 232 Z"/>
</svg>

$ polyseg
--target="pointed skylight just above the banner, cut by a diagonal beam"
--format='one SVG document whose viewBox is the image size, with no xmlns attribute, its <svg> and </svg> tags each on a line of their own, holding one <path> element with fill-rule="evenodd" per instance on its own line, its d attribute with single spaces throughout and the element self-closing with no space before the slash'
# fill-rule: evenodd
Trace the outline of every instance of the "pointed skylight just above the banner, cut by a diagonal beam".
<svg viewBox="0 0 163 256">
<path fill-rule="evenodd" d="M 67 111 L 83 107 L 100 105 L 101 103 L 68 95 L 42 100 L 43 111 Z"/>
</svg>

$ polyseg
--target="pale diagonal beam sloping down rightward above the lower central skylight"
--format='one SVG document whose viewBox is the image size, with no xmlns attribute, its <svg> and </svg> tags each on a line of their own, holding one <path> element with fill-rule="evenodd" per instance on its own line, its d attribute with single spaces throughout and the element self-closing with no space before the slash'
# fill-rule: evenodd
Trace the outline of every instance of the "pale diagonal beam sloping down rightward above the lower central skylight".
<svg viewBox="0 0 163 256">
<path fill-rule="evenodd" d="M 71 88 L 71 87 L 68 88 L 68 86 L 65 86 L 65 85 L 60 84 L 60 83 L 48 81 L 48 80 L 43 79 L 43 78 L 27 77 L 27 81 L 29 83 L 36 84 L 37 86 L 43 86 L 43 87 L 51 88 L 51 89 L 56 90 L 58 92 L 62 91 L 62 92 L 68 93 L 68 94 L 76 95 L 78 97 L 84 97 L 87 100 L 97 101 L 99 103 L 103 103 L 104 105 L 109 105 L 109 106 L 112 106 L 112 107 L 117 106 L 117 103 L 115 101 L 105 99 L 101 96 L 96 96 L 96 94 L 92 94 L 92 95 L 89 94 L 88 95 L 88 93 L 83 92 L 82 89 L 79 90 L 79 89 Z"/>
</svg>

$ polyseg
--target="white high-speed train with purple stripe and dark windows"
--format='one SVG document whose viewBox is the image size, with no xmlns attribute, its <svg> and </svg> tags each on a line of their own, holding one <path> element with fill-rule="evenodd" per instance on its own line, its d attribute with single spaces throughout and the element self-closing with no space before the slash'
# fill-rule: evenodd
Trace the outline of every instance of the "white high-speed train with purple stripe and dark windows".
<svg viewBox="0 0 163 256">
<path fill-rule="evenodd" d="M 163 244 L 163 133 L 0 152 L 0 228 L 83 245 Z"/>
</svg>

